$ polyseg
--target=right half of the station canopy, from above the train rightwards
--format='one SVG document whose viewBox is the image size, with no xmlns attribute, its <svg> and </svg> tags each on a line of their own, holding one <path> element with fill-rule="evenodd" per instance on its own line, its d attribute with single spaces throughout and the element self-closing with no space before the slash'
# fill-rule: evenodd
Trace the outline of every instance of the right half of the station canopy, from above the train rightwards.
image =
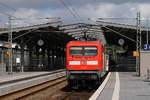
<svg viewBox="0 0 150 100">
<path fill-rule="evenodd" d="M 149 33 L 149 29 L 150 28 L 148 27 L 141 26 L 142 46 L 146 43 L 146 33 Z M 102 35 L 104 35 L 107 44 L 119 46 L 119 42 L 122 41 L 124 43 L 124 47 L 128 48 L 129 51 L 136 50 L 136 25 L 97 21 L 95 24 L 76 23 L 63 25 L 61 30 L 64 30 L 75 39 L 83 37 L 86 33 L 89 39 L 94 40 L 94 38 L 98 38 L 99 33 L 103 33 Z"/>
</svg>

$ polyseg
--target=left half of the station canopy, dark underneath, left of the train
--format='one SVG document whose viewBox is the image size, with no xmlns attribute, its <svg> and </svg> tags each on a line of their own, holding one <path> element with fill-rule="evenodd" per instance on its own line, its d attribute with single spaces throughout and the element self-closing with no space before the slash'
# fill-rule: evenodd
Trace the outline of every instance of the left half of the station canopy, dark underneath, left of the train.
<svg viewBox="0 0 150 100">
<path fill-rule="evenodd" d="M 72 40 L 67 34 L 59 29 L 61 21 L 54 21 L 33 26 L 17 27 L 17 28 L 1 28 L 0 40 L 1 42 L 8 41 L 8 34 L 12 32 L 13 43 L 20 44 L 24 42 L 26 45 L 37 45 L 37 41 L 43 40 L 47 46 L 63 45 Z"/>
</svg>

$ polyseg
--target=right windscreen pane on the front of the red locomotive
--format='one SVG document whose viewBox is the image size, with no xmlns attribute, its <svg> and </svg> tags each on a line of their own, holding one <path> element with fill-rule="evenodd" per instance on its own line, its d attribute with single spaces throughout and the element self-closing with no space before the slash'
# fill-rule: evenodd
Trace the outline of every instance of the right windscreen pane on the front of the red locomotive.
<svg viewBox="0 0 150 100">
<path fill-rule="evenodd" d="M 85 56 L 96 56 L 97 48 L 96 47 L 84 47 L 84 55 Z"/>
</svg>

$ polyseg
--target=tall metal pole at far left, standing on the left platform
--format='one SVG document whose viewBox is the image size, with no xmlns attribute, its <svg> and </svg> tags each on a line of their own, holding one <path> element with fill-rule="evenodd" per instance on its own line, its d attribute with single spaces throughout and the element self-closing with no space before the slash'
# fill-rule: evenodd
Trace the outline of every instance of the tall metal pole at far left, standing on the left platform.
<svg viewBox="0 0 150 100">
<path fill-rule="evenodd" d="M 9 16 L 9 33 L 8 33 L 8 43 L 10 44 L 9 47 L 9 67 L 10 67 L 10 73 L 13 72 L 12 68 L 12 25 L 11 25 L 11 16 Z"/>
</svg>

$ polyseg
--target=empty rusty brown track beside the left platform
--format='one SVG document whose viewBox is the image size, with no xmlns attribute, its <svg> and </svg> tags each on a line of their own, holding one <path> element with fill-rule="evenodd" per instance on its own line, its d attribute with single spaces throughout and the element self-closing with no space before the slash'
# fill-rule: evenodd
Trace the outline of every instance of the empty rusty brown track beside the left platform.
<svg viewBox="0 0 150 100">
<path fill-rule="evenodd" d="M 23 90 L 19 90 L 4 96 L 0 97 L 0 100 L 33 100 L 33 98 L 36 98 L 35 100 L 41 100 L 42 98 L 37 98 L 36 94 L 39 94 L 41 91 L 45 91 L 47 88 L 53 88 L 55 86 L 58 86 L 58 84 L 65 83 L 66 78 L 65 76 L 60 77 L 55 80 L 51 80 L 42 84 L 38 84 L 36 86 L 32 86 Z M 44 98 L 43 98 L 44 99 Z"/>
</svg>

